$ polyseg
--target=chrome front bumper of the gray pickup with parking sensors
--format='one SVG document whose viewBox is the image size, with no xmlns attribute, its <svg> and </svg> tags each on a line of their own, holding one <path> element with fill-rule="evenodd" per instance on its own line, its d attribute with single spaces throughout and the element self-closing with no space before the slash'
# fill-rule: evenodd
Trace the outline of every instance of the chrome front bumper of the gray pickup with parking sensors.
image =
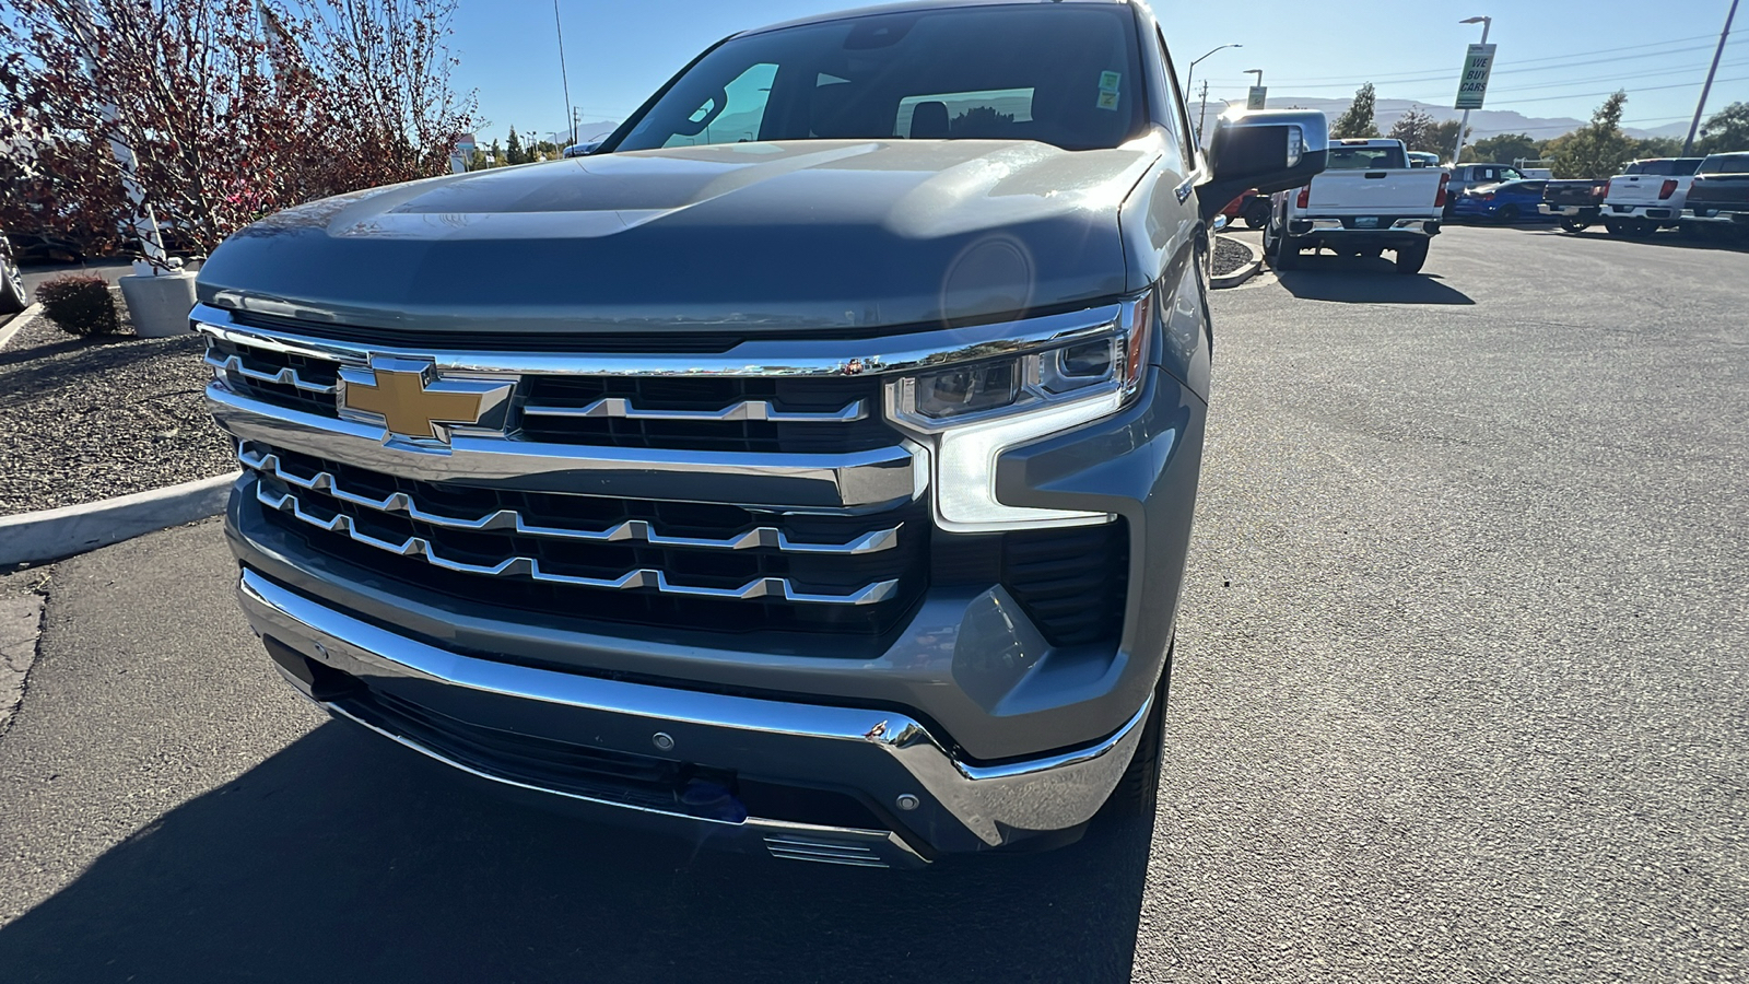
<svg viewBox="0 0 1749 984">
<path fill-rule="evenodd" d="M 567 732 L 589 735 L 603 751 L 663 749 L 668 758 L 710 769 L 848 786 L 874 816 L 894 821 L 888 830 L 756 816 L 724 821 L 533 786 L 362 720 L 341 702 L 320 699 L 308 681 L 282 667 L 294 686 L 336 716 L 504 788 L 561 797 L 595 807 L 588 812 L 605 819 L 784 858 L 920 865 L 937 853 L 992 849 L 1081 825 L 1116 788 L 1151 709 L 1149 700 L 1116 734 L 1084 748 L 971 765 L 950 755 L 920 721 L 892 711 L 680 690 L 469 657 L 366 623 L 248 569 L 238 595 L 257 634 L 367 686 L 441 692 L 451 709 L 474 700 L 483 711 L 490 706 L 493 714 L 526 721 L 530 734 L 539 734 L 540 721 L 565 721 L 574 725 Z"/>
</svg>

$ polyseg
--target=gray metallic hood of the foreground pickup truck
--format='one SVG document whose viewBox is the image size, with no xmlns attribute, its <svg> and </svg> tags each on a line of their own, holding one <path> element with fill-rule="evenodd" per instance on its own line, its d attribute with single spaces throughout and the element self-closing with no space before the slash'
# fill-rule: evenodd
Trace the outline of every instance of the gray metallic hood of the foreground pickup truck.
<svg viewBox="0 0 1749 984">
<path fill-rule="evenodd" d="M 329 198 L 231 236 L 203 303 L 425 333 L 923 326 L 1125 289 L 1151 145 L 785 142 L 574 158 Z"/>
</svg>

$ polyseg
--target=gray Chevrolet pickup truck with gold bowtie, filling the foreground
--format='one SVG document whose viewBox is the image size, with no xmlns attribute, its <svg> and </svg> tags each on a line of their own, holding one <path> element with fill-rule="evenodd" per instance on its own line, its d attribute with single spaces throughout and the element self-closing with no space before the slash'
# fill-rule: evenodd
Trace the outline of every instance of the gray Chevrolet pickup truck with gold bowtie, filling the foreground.
<svg viewBox="0 0 1749 984">
<path fill-rule="evenodd" d="M 509 795 L 869 867 L 1151 811 L 1214 215 L 1142 4 L 722 40 L 589 154 L 199 275 L 226 532 L 306 697 Z"/>
</svg>

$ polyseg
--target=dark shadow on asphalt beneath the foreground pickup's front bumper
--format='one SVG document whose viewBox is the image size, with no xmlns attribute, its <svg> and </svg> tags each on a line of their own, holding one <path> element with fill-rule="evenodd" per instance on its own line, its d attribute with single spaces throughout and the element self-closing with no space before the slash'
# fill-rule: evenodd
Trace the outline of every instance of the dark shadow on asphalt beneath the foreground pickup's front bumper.
<svg viewBox="0 0 1749 984">
<path fill-rule="evenodd" d="M 1130 980 L 1151 823 L 888 872 L 698 851 L 327 723 L 0 930 L 7 980 Z"/>
</svg>

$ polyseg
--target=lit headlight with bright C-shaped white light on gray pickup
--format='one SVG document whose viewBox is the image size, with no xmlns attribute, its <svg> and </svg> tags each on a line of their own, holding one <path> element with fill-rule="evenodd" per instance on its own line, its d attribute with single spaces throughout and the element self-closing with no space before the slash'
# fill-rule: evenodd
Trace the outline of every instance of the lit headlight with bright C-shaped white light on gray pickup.
<svg viewBox="0 0 1749 984">
<path fill-rule="evenodd" d="M 1118 319 L 1027 352 L 918 371 L 887 383 L 887 415 L 932 448 L 936 522 L 950 532 L 1111 522 L 1111 513 L 1007 506 L 995 464 L 1007 448 L 1123 410 L 1140 390 L 1153 292 Z"/>
</svg>

